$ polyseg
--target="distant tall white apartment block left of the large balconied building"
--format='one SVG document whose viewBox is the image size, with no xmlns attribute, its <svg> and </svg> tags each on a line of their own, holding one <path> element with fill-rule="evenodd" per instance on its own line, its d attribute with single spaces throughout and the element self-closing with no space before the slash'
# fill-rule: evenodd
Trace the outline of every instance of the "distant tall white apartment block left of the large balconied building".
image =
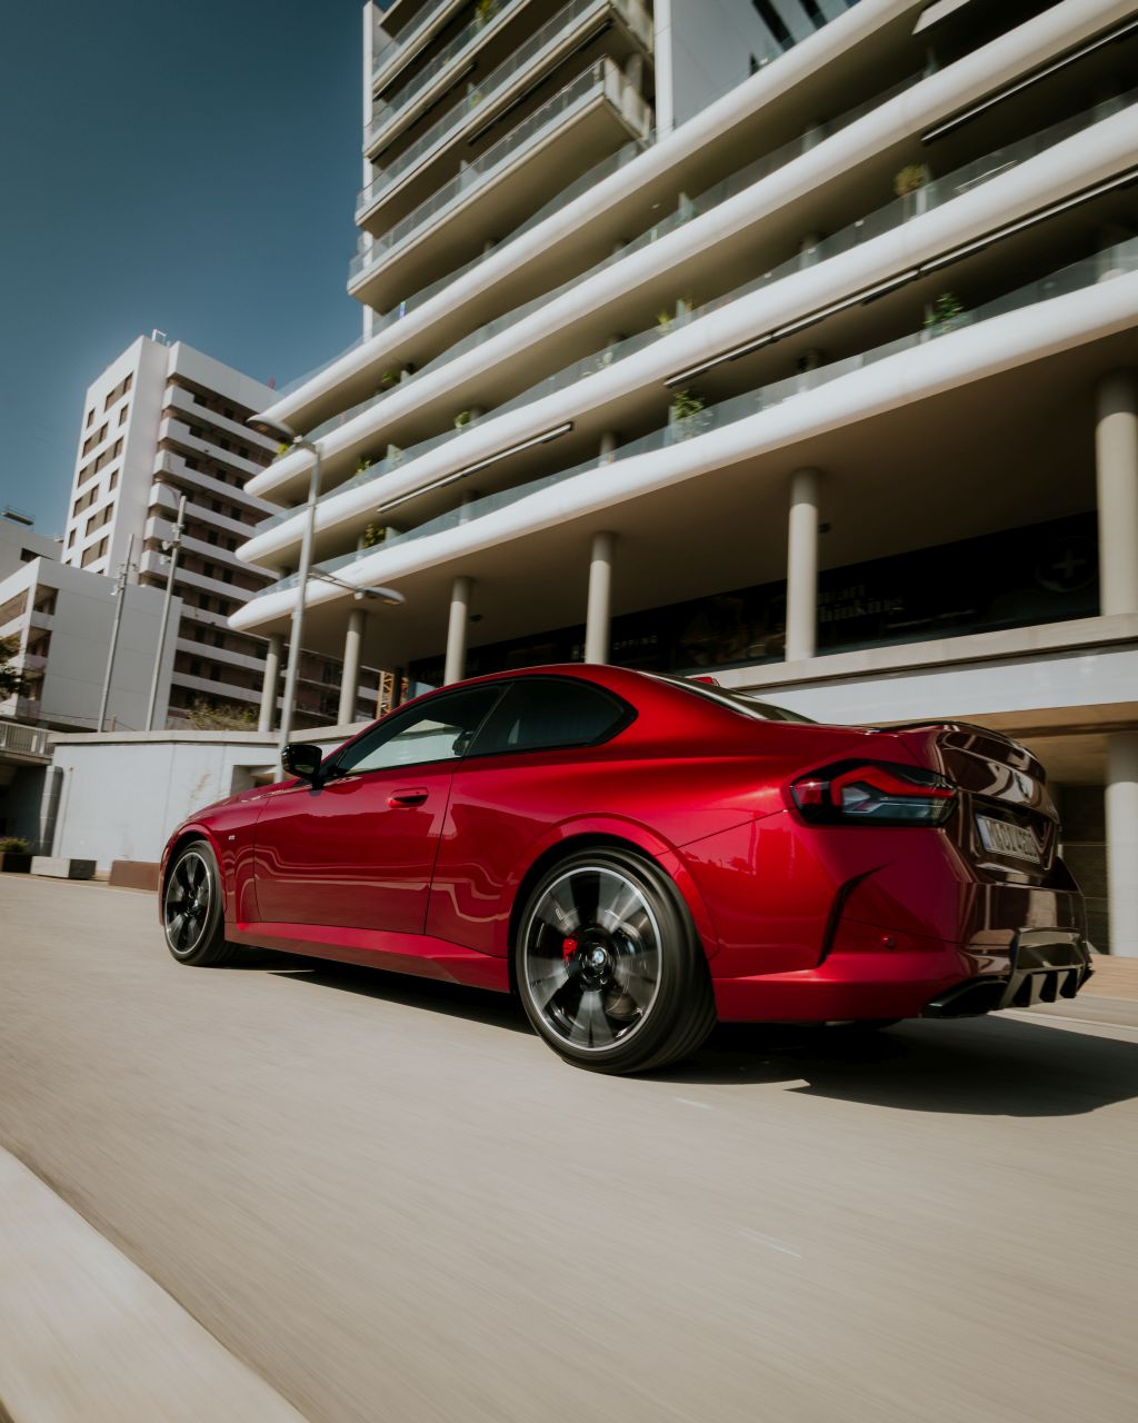
<svg viewBox="0 0 1138 1423">
<path fill-rule="evenodd" d="M 272 565 L 250 566 L 236 552 L 272 511 L 248 485 L 276 445 L 245 420 L 273 398 L 269 386 L 158 332 L 139 336 L 87 391 L 63 562 L 117 575 L 129 552 L 132 576 L 165 588 L 178 502 L 186 497 L 174 583 L 181 610 L 168 635 L 175 724 L 196 703 L 256 709 L 266 724 L 275 713 L 266 667 L 276 667 L 279 653 L 270 649 L 266 662 L 263 639 L 228 625 L 275 578 Z M 334 719 L 339 662 L 307 656 L 302 673 L 302 724 Z M 371 703 L 360 709 L 366 716 L 374 687 L 373 675 Z M 127 724 L 141 729 L 145 720 Z M 164 727 L 166 717 L 155 724 Z"/>
</svg>

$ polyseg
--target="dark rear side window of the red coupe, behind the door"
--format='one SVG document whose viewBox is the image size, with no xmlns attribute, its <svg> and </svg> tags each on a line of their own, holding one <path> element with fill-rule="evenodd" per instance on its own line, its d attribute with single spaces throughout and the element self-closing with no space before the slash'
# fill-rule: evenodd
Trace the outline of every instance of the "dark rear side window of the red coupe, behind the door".
<svg viewBox="0 0 1138 1423">
<path fill-rule="evenodd" d="M 612 693 L 575 677 L 519 677 L 486 717 L 471 756 L 596 746 L 632 720 Z"/>
</svg>

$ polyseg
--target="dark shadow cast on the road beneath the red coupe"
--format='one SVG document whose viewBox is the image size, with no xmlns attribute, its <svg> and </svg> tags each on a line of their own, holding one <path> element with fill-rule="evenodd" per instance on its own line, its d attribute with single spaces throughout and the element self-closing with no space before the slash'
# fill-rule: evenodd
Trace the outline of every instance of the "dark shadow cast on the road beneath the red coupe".
<svg viewBox="0 0 1138 1423">
<path fill-rule="evenodd" d="M 233 968 L 532 1035 L 518 1000 L 502 993 L 269 949 L 246 951 Z M 533 1052 L 542 1052 L 536 1040 Z M 785 1084 L 903 1111 L 1061 1117 L 1138 1097 L 1138 1043 L 999 1015 L 909 1022 L 888 1032 L 721 1023 L 698 1053 L 650 1077 L 690 1086 Z"/>
</svg>

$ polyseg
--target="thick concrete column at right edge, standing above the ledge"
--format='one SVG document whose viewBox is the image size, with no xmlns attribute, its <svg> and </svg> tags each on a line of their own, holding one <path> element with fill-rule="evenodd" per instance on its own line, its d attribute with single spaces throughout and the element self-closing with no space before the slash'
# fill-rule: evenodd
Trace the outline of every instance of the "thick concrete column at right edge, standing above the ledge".
<svg viewBox="0 0 1138 1423">
<path fill-rule="evenodd" d="M 1100 610 L 1138 613 L 1138 379 L 1115 370 L 1098 383 Z"/>
</svg>

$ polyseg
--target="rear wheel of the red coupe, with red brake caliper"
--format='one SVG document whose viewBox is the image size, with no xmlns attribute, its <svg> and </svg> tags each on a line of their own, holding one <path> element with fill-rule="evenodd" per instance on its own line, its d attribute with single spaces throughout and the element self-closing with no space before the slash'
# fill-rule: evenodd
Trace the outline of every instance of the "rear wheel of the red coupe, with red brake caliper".
<svg viewBox="0 0 1138 1423">
<path fill-rule="evenodd" d="M 548 869 L 515 949 L 529 1022 L 566 1062 L 639 1073 L 693 1053 L 716 1023 L 711 976 L 679 889 L 605 845 Z"/>
</svg>

